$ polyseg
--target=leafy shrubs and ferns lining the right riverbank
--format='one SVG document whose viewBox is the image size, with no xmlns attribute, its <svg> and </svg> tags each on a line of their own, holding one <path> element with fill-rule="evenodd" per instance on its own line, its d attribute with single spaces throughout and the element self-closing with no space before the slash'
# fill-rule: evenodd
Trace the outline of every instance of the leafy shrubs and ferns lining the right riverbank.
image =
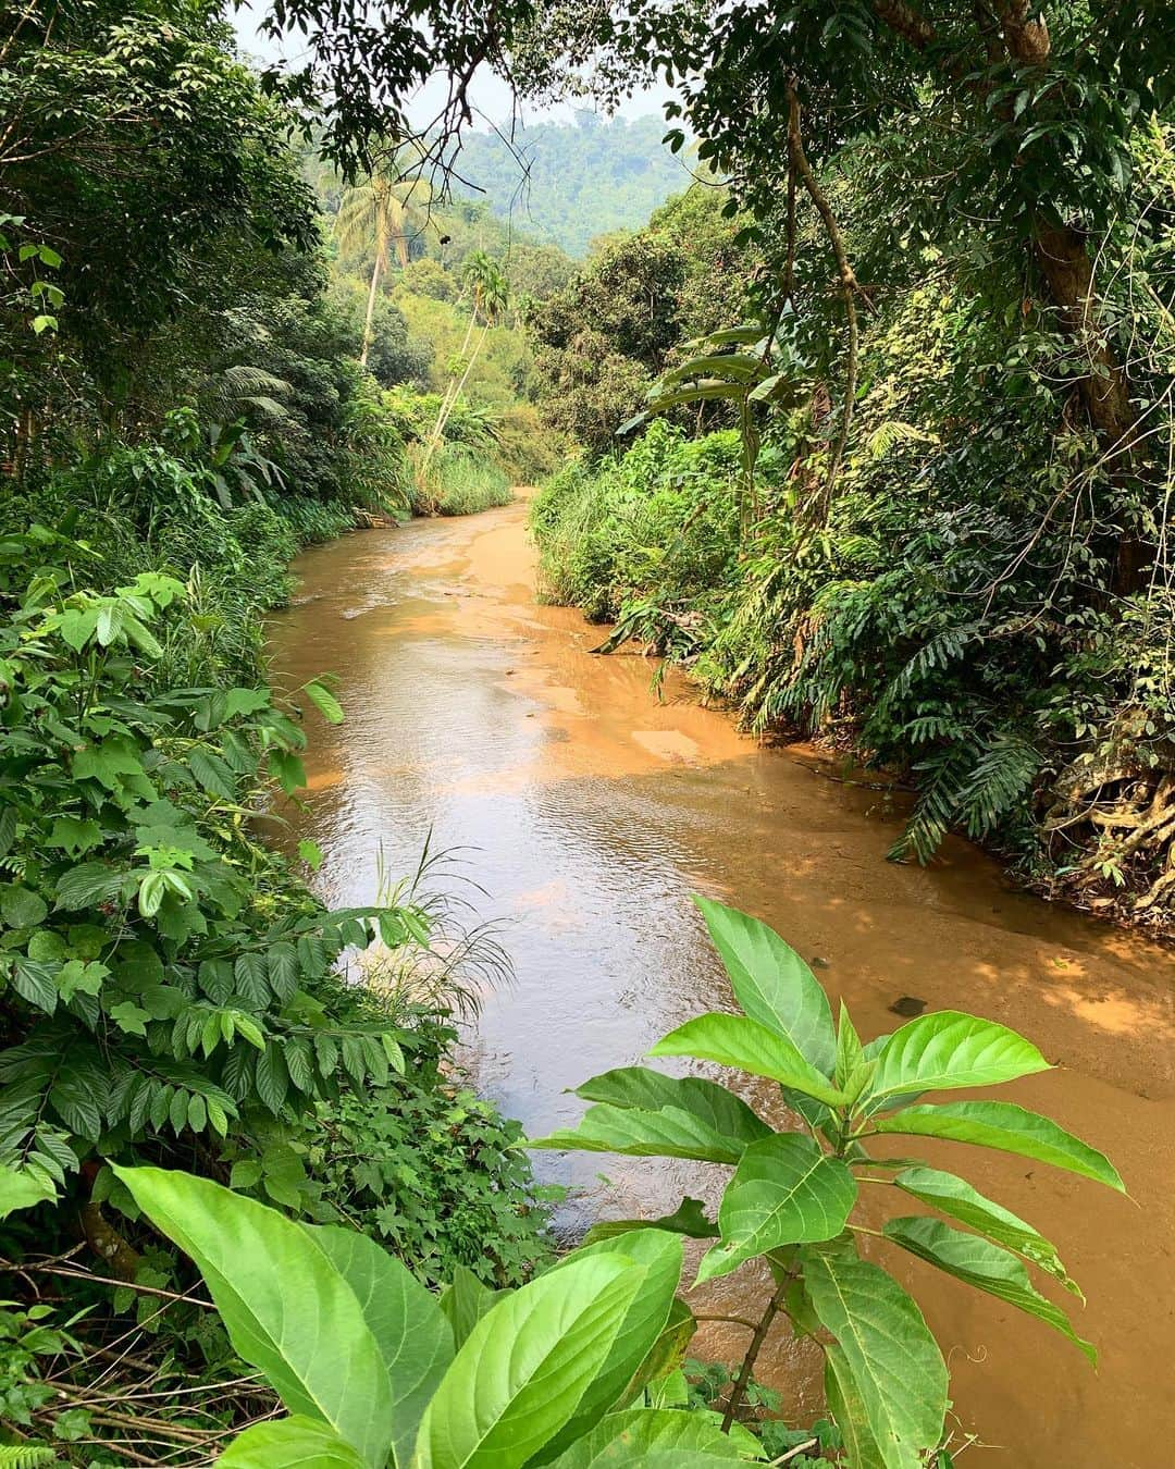
<svg viewBox="0 0 1175 1469">
<path fill-rule="evenodd" d="M 1171 157 L 1160 131 L 1140 140 L 1152 219 Z M 846 176 L 837 207 L 845 238 L 875 259 L 871 195 L 855 192 L 870 184 Z M 764 426 L 749 533 L 728 442 L 709 441 L 726 457 L 706 479 L 683 474 L 687 447 L 658 430 L 563 472 L 536 502 L 548 591 L 686 661 L 752 729 L 815 730 L 908 776 L 918 805 L 902 853 L 925 859 L 961 827 L 1053 890 L 1102 903 L 1125 889 L 1162 918 L 1166 583 L 1110 595 L 1116 542 L 1107 501 L 1091 498 L 1102 452 L 1056 419 L 1065 341 L 1021 306 L 993 316 L 962 264 L 914 264 L 862 333 L 824 511 L 834 416 L 798 323 L 805 404 Z M 1137 247 L 1131 279 L 1156 303 L 1162 269 Z M 1135 310 L 1140 332 L 1162 336 L 1157 304 Z M 612 417 L 630 403 L 617 394 Z M 1137 480 L 1104 489 L 1132 514 Z"/>
</svg>

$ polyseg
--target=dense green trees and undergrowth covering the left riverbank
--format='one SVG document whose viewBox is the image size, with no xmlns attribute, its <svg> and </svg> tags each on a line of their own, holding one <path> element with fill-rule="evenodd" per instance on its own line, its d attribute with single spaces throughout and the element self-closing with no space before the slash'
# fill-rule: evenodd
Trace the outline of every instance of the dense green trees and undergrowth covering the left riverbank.
<svg viewBox="0 0 1175 1469">
<path fill-rule="evenodd" d="M 304 715 L 342 718 L 330 680 L 267 686 L 291 558 L 507 477 L 458 395 L 422 485 L 432 351 L 383 301 L 360 361 L 294 118 L 217 6 L 22 7 L 0 47 L 0 1218 L 37 1206 L 0 1255 L 25 1294 L 66 1272 L 51 1327 L 0 1321 L 0 1437 L 207 1462 L 256 1391 L 109 1163 L 354 1219 L 427 1281 L 520 1284 L 548 1249 L 517 1128 L 451 1071 L 461 974 L 352 983 L 364 950 L 395 978 L 476 940 L 416 886 L 329 912 L 313 843 L 266 842 Z M 153 1385 L 100 1376 L 123 1351 Z"/>
</svg>

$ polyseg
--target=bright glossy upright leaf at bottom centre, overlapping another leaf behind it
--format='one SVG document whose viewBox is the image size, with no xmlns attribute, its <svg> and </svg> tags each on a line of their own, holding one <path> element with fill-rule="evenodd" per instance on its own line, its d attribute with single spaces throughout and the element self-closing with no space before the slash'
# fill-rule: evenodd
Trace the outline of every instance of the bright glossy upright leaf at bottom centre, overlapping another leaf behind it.
<svg viewBox="0 0 1175 1469">
<path fill-rule="evenodd" d="M 424 1413 L 416 1469 L 518 1469 L 540 1453 L 608 1362 L 645 1275 L 627 1256 L 601 1253 L 498 1302 Z"/>
</svg>

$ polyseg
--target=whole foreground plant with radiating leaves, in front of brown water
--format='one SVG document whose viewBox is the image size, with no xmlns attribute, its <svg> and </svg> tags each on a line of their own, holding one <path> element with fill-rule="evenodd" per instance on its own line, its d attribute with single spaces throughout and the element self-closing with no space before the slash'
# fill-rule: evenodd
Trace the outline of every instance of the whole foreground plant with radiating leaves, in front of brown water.
<svg viewBox="0 0 1175 1469">
<path fill-rule="evenodd" d="M 623 1247 L 624 1231 L 659 1227 L 714 1238 L 695 1284 L 767 1260 L 774 1291 L 726 1406 L 734 1418 L 777 1315 L 825 1354 L 828 1410 L 856 1469 L 908 1469 L 937 1450 L 947 1410 L 947 1371 L 921 1312 L 897 1281 L 862 1259 L 864 1237 L 897 1246 L 1094 1349 L 1033 1285 L 1025 1262 L 1080 1296 L 1056 1249 L 1030 1224 L 965 1178 L 903 1158 L 875 1158 L 877 1137 L 974 1143 L 1053 1163 L 1124 1191 L 1113 1165 L 1046 1116 L 1010 1102 L 925 1103 L 928 1091 L 984 1087 L 1049 1069 L 1022 1036 L 956 1011 L 919 1015 L 862 1044 L 842 1005 L 834 1025 L 808 965 L 771 928 L 698 899 L 740 1014 L 709 1014 L 665 1036 L 651 1055 L 692 1056 L 778 1083 L 800 1131 L 776 1131 L 714 1081 L 643 1066 L 608 1071 L 579 1087 L 592 1102 L 577 1128 L 532 1147 L 733 1165 L 717 1221 L 696 1200 L 670 1218 L 598 1225 Z M 878 1231 L 850 1219 L 861 1185 L 892 1190 L 946 1215 L 899 1215 Z M 872 1219 L 872 1213 L 870 1215 Z M 940 1460 L 941 1462 L 941 1460 Z"/>
</svg>

